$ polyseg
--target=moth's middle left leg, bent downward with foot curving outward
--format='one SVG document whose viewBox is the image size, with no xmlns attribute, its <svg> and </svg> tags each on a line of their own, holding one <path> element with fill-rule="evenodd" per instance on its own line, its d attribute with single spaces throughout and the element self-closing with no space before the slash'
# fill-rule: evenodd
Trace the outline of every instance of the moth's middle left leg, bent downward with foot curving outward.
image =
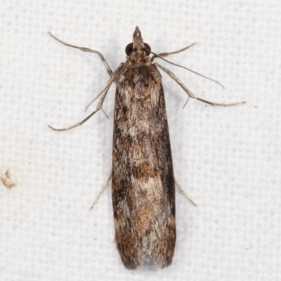
<svg viewBox="0 0 281 281">
<path fill-rule="evenodd" d="M 112 74 L 112 76 L 110 77 L 109 81 L 107 82 L 107 85 L 105 87 L 105 89 L 100 93 L 101 98 L 100 98 L 100 102 L 98 103 L 98 106 L 96 107 L 96 110 L 94 112 L 92 112 L 89 116 L 87 116 L 85 119 L 83 119 L 81 122 L 74 124 L 72 126 L 69 126 L 67 128 L 64 129 L 55 129 L 52 126 L 48 125 L 49 128 L 51 128 L 54 131 L 70 131 L 71 129 L 74 129 L 77 126 L 81 126 L 81 124 L 84 124 L 88 119 L 90 119 L 93 115 L 96 114 L 96 112 L 98 112 L 99 110 L 102 109 L 103 107 L 103 101 L 105 100 L 105 96 L 107 94 L 107 91 L 110 89 L 111 84 L 113 83 L 113 81 L 115 81 L 116 77 L 119 75 L 120 72 L 122 72 L 124 68 L 124 63 L 122 63 L 117 70 L 115 70 L 115 72 Z M 99 96 L 100 96 L 99 95 Z"/>
</svg>

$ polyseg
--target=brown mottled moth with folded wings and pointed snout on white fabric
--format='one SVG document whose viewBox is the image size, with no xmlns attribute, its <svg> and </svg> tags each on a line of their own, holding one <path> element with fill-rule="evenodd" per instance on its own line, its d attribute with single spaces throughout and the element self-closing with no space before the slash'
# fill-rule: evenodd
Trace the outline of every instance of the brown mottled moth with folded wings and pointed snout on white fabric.
<svg viewBox="0 0 281 281">
<path fill-rule="evenodd" d="M 80 126 L 102 110 L 108 89 L 113 82 L 117 84 L 112 145 L 112 205 L 117 249 L 128 269 L 138 268 L 146 258 L 152 259 L 155 266 L 169 266 L 176 244 L 176 183 L 162 76 L 158 67 L 175 79 L 189 98 L 210 105 L 240 103 L 211 103 L 197 98 L 173 72 L 153 63 L 155 58 L 163 59 L 190 46 L 157 55 L 143 42 L 138 27 L 133 32 L 133 42 L 126 46 L 125 63 L 121 63 L 115 72 L 100 52 L 66 44 L 51 36 L 66 46 L 98 54 L 110 79 L 91 115 L 65 129 L 50 128 L 68 131 Z M 151 58 L 150 53 L 154 54 Z"/>
</svg>

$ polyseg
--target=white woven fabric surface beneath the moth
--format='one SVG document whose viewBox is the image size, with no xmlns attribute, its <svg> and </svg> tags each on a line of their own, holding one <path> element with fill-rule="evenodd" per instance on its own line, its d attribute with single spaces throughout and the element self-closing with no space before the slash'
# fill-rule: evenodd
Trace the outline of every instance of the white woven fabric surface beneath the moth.
<svg viewBox="0 0 281 281">
<path fill-rule="evenodd" d="M 280 1 L 6 1 L 0 20 L 0 280 L 281 280 Z M 162 73 L 176 190 L 177 242 L 164 270 L 128 271 L 114 242 L 110 186 L 115 86 L 107 83 L 140 27 L 196 96 Z"/>
</svg>

